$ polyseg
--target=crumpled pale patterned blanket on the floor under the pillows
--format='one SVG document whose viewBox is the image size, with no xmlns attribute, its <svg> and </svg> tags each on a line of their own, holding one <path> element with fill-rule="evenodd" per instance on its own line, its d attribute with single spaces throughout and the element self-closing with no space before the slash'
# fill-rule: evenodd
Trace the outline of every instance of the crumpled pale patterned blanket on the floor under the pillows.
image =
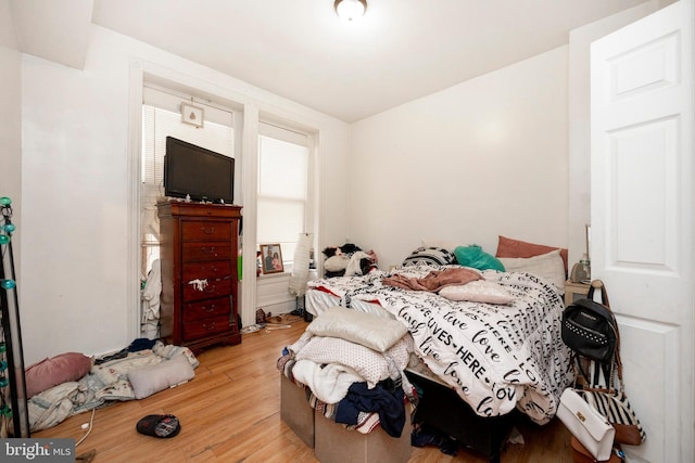
<svg viewBox="0 0 695 463">
<path fill-rule="evenodd" d="M 78 382 L 59 384 L 28 400 L 29 429 L 47 429 L 65 419 L 97 409 L 113 401 L 134 400 L 128 371 L 161 363 L 185 355 L 191 366 L 200 362 L 188 347 L 165 345 L 157 340 L 152 349 L 128 352 L 124 358 L 92 365 Z"/>
</svg>

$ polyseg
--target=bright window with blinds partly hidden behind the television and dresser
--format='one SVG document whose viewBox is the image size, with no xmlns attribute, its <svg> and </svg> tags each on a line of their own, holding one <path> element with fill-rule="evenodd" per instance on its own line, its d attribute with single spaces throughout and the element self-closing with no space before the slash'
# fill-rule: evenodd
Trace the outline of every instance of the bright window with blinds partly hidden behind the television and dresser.
<svg viewBox="0 0 695 463">
<path fill-rule="evenodd" d="M 160 257 L 160 222 L 156 203 L 164 196 L 164 154 L 166 137 L 175 137 L 233 157 L 231 111 L 193 101 L 204 110 L 202 128 L 181 123 L 180 104 L 191 102 L 189 95 L 174 94 L 146 87 L 142 104 L 142 166 L 140 221 L 141 272 L 144 278 L 152 261 Z"/>
</svg>

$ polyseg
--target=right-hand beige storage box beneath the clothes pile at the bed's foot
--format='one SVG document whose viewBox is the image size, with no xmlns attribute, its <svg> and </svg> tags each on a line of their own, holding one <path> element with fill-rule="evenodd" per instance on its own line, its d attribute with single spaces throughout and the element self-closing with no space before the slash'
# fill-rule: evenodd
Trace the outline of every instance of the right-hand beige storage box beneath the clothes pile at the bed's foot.
<svg viewBox="0 0 695 463">
<path fill-rule="evenodd" d="M 400 438 L 381 427 L 369 434 L 345 429 L 316 412 L 314 454 L 321 463 L 404 463 L 410 458 L 410 406 L 405 406 L 405 426 Z"/>
</svg>

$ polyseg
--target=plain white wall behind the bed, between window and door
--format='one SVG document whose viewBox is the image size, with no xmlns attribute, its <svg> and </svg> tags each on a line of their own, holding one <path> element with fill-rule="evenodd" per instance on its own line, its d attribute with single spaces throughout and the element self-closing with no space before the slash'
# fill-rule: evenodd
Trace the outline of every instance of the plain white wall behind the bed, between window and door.
<svg viewBox="0 0 695 463">
<path fill-rule="evenodd" d="M 567 246 L 567 66 L 561 47 L 354 124 L 352 241 L 381 268 L 421 237 Z"/>
</svg>

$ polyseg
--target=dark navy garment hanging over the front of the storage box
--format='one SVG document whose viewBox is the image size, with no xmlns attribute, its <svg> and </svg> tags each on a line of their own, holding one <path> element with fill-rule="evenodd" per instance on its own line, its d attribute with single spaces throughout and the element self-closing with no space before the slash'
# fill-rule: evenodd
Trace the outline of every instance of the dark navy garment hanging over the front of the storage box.
<svg viewBox="0 0 695 463">
<path fill-rule="evenodd" d="M 391 437 L 401 437 L 405 425 L 405 403 L 402 388 L 389 393 L 380 385 L 372 389 L 367 383 L 353 383 L 344 399 L 338 402 L 336 423 L 357 424 L 359 412 L 376 412 L 379 424 Z"/>
</svg>

